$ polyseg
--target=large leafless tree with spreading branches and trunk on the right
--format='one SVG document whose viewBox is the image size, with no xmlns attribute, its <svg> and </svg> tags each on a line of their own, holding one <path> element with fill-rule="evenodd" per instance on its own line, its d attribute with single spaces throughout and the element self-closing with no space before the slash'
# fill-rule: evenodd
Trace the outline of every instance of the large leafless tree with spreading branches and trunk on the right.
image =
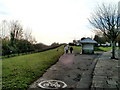
<svg viewBox="0 0 120 90">
<path fill-rule="evenodd" d="M 118 7 L 113 4 L 102 4 L 92 13 L 89 22 L 112 42 L 112 59 L 115 59 L 115 41 L 120 34 L 120 15 Z"/>
</svg>

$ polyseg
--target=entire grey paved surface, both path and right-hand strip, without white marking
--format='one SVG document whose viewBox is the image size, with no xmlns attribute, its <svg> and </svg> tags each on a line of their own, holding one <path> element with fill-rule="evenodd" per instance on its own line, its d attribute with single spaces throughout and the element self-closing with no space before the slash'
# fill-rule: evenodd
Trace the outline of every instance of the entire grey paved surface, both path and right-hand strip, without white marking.
<svg viewBox="0 0 120 90">
<path fill-rule="evenodd" d="M 120 51 L 117 54 L 120 54 Z M 42 77 L 31 84 L 29 89 L 39 88 L 38 83 L 44 80 L 64 81 L 67 88 L 72 88 L 72 90 L 76 88 L 118 89 L 119 60 L 110 59 L 110 56 L 110 52 L 104 52 L 102 55 L 64 54 Z M 117 57 L 120 59 L 120 55 Z"/>
</svg>

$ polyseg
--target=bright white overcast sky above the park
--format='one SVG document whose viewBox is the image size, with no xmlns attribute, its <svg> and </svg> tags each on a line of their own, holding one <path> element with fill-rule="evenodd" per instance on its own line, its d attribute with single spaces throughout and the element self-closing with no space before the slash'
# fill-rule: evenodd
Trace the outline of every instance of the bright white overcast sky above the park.
<svg viewBox="0 0 120 90">
<path fill-rule="evenodd" d="M 0 0 L 0 21 L 19 20 L 37 43 L 69 43 L 94 37 L 88 18 L 102 3 L 120 0 Z"/>
</svg>

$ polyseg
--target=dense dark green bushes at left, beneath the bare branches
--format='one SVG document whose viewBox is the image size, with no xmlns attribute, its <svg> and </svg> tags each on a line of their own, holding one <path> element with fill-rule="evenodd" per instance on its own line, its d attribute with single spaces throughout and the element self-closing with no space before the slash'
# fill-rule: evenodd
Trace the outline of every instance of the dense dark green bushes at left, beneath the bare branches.
<svg viewBox="0 0 120 90">
<path fill-rule="evenodd" d="M 16 40 L 15 44 L 11 44 L 9 40 L 2 40 L 2 55 L 19 54 L 34 51 L 34 45 L 27 40 Z"/>
</svg>

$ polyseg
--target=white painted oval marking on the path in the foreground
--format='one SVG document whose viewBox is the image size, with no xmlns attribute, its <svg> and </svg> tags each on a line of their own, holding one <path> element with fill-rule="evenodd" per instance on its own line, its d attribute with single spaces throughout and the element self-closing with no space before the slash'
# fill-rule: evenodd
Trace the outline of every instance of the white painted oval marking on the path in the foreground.
<svg viewBox="0 0 120 90">
<path fill-rule="evenodd" d="M 45 80 L 41 81 L 38 86 L 44 89 L 58 89 L 67 87 L 67 84 L 60 80 Z"/>
</svg>

